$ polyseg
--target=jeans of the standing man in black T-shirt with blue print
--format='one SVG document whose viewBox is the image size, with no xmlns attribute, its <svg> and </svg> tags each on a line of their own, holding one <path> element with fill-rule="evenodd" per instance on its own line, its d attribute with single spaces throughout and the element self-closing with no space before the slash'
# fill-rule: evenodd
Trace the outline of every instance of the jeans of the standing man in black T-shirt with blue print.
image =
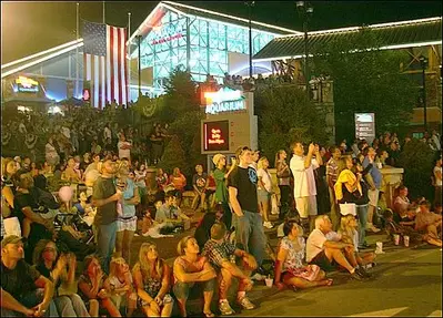
<svg viewBox="0 0 443 318">
<path fill-rule="evenodd" d="M 243 216 L 234 214 L 234 222 L 236 247 L 252 254 L 260 267 L 266 247 L 262 216 L 243 209 Z"/>
</svg>

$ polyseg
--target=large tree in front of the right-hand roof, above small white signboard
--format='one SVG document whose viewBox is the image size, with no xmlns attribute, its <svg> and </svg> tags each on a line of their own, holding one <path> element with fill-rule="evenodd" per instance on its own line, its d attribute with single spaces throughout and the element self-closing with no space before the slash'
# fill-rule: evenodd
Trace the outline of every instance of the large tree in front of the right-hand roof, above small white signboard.
<svg viewBox="0 0 443 318">
<path fill-rule="evenodd" d="M 312 48 L 314 73 L 334 82 L 338 140 L 354 135 L 354 113 L 375 113 L 377 131 L 399 130 L 412 116 L 417 88 L 400 70 L 407 54 L 380 48 L 380 39 L 366 28 Z"/>
</svg>

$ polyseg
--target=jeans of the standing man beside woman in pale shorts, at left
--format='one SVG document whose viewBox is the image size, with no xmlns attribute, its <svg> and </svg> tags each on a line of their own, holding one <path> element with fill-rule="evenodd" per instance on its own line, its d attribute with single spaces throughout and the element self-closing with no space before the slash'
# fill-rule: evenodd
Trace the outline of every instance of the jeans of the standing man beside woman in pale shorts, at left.
<svg viewBox="0 0 443 318">
<path fill-rule="evenodd" d="M 98 225 L 97 253 L 99 254 L 103 271 L 109 274 L 109 263 L 115 247 L 117 222 Z"/>
</svg>

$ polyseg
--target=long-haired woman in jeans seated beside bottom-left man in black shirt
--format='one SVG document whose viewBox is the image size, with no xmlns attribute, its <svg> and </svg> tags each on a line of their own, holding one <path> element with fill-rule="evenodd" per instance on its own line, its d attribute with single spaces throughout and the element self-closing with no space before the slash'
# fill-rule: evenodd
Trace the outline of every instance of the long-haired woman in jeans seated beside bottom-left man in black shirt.
<svg viewBox="0 0 443 318">
<path fill-rule="evenodd" d="M 78 294 L 59 295 L 62 285 L 72 285 L 75 279 L 75 255 L 58 255 L 56 243 L 50 239 L 41 239 L 33 250 L 33 266 L 54 285 L 57 309 L 61 317 L 90 317 L 88 309 Z"/>
</svg>

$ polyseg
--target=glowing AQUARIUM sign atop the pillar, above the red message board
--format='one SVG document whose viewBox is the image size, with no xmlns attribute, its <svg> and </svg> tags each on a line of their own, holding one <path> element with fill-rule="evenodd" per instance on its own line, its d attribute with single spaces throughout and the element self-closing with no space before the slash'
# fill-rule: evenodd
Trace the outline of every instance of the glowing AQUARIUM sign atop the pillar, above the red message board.
<svg viewBox="0 0 443 318">
<path fill-rule="evenodd" d="M 246 105 L 241 91 L 222 88 L 218 92 L 205 92 L 207 114 L 245 110 Z"/>
</svg>

